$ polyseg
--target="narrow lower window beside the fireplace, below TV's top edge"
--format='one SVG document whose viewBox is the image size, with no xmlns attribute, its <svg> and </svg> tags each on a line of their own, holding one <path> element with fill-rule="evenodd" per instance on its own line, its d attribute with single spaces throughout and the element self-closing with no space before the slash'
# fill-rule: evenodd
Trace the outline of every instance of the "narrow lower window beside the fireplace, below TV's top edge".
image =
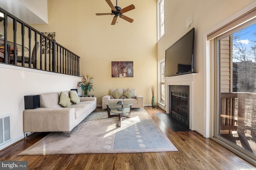
<svg viewBox="0 0 256 170">
<path fill-rule="evenodd" d="M 165 67 L 165 61 L 163 59 L 158 63 L 158 68 L 159 68 L 158 102 L 161 103 L 162 105 L 165 105 L 164 104 L 165 103 L 164 67 Z"/>
</svg>

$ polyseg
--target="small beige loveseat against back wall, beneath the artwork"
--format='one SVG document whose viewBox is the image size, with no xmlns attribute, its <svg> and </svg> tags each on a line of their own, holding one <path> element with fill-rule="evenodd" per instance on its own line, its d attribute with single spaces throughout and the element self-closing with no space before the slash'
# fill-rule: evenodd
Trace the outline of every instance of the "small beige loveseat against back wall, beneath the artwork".
<svg viewBox="0 0 256 170">
<path fill-rule="evenodd" d="M 136 94 L 136 89 L 110 89 L 110 94 L 102 97 L 102 110 L 107 109 L 106 103 L 133 103 L 132 108 L 144 108 L 144 97 Z"/>
</svg>

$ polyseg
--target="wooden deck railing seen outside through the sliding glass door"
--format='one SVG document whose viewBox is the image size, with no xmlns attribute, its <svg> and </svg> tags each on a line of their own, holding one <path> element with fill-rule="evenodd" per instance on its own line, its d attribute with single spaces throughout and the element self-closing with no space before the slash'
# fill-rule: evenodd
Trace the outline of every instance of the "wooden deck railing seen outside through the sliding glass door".
<svg viewBox="0 0 256 170">
<path fill-rule="evenodd" d="M 220 102 L 220 133 L 237 131 L 256 142 L 256 93 L 221 93 Z"/>
</svg>

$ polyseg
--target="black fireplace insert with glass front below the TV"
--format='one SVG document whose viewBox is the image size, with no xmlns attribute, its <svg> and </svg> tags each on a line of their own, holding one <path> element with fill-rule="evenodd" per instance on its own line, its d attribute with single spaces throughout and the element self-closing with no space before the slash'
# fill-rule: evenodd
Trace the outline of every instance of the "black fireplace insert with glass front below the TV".
<svg viewBox="0 0 256 170">
<path fill-rule="evenodd" d="M 171 115 L 189 126 L 188 94 L 171 92 Z"/>
</svg>

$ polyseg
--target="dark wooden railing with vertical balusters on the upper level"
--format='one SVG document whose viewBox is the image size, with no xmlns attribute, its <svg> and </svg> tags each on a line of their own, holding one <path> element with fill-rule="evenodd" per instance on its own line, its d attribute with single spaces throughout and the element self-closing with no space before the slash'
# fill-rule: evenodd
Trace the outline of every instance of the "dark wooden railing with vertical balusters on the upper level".
<svg viewBox="0 0 256 170">
<path fill-rule="evenodd" d="M 79 76 L 80 57 L 0 8 L 0 62 Z M 0 34 L 1 35 L 1 34 Z"/>
</svg>

